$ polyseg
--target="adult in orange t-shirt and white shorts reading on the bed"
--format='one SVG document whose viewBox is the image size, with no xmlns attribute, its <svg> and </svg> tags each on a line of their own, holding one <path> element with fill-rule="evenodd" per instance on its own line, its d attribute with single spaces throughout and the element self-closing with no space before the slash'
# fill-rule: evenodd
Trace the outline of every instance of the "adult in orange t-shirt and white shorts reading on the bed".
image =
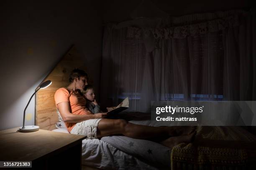
<svg viewBox="0 0 256 170">
<path fill-rule="evenodd" d="M 124 135 L 130 138 L 155 140 L 169 137 L 159 143 L 172 148 L 178 143 L 189 143 L 195 135 L 195 127 L 151 127 L 135 125 L 121 119 L 104 119 L 107 113 L 93 114 L 86 108 L 81 94 L 87 85 L 87 74 L 75 69 L 69 76 L 70 84 L 55 92 L 55 104 L 70 133 L 100 138 L 109 135 Z"/>
</svg>

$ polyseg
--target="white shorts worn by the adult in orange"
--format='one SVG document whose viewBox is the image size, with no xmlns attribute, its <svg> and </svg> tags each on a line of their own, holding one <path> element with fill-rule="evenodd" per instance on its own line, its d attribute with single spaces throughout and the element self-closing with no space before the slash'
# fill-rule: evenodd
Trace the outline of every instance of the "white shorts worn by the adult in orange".
<svg viewBox="0 0 256 170">
<path fill-rule="evenodd" d="M 89 119 L 77 123 L 70 131 L 72 134 L 85 135 L 87 139 L 97 138 L 98 123 L 102 119 Z"/>
</svg>

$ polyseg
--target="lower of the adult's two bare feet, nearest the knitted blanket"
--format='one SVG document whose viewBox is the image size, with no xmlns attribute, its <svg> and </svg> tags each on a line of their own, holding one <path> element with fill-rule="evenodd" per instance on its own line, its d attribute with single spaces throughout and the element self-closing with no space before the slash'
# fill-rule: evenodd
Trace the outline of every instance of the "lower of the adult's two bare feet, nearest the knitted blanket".
<svg viewBox="0 0 256 170">
<path fill-rule="evenodd" d="M 178 145 L 179 143 L 190 143 L 195 134 L 196 132 L 194 131 L 190 135 L 170 137 L 160 143 L 169 148 L 173 148 L 175 145 Z"/>
</svg>

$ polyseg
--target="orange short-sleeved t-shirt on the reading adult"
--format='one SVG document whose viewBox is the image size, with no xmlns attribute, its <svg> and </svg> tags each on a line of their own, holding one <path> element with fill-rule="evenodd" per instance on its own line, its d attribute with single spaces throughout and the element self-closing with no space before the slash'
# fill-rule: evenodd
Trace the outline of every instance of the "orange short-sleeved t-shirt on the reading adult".
<svg viewBox="0 0 256 170">
<path fill-rule="evenodd" d="M 55 92 L 54 99 L 55 99 L 55 105 L 57 108 L 58 108 L 57 105 L 59 103 L 69 102 L 71 113 L 76 115 L 92 114 L 92 112 L 90 112 L 85 106 L 86 105 L 85 98 L 82 95 L 80 95 L 78 91 L 68 90 L 65 87 L 61 87 Z M 68 123 L 68 122 L 65 122 L 65 124 L 69 132 L 76 125 L 76 123 Z"/>
</svg>

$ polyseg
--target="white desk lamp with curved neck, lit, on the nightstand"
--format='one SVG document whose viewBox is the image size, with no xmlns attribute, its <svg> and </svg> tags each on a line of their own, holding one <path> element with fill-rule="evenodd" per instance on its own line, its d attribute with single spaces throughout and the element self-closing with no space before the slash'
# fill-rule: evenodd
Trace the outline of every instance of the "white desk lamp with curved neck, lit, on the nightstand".
<svg viewBox="0 0 256 170">
<path fill-rule="evenodd" d="M 38 89 L 33 93 L 33 95 L 35 95 L 39 89 L 44 89 L 44 88 L 48 87 L 49 85 L 51 85 L 51 80 L 47 80 L 47 81 L 43 82 L 41 85 L 39 85 Z M 19 132 L 35 132 L 35 131 L 39 130 L 39 126 L 36 126 L 36 125 L 25 126 L 26 109 L 27 109 L 33 95 L 30 97 L 28 104 L 25 107 L 24 114 L 23 114 L 23 126 L 20 127 L 20 129 L 18 130 Z"/>
</svg>

